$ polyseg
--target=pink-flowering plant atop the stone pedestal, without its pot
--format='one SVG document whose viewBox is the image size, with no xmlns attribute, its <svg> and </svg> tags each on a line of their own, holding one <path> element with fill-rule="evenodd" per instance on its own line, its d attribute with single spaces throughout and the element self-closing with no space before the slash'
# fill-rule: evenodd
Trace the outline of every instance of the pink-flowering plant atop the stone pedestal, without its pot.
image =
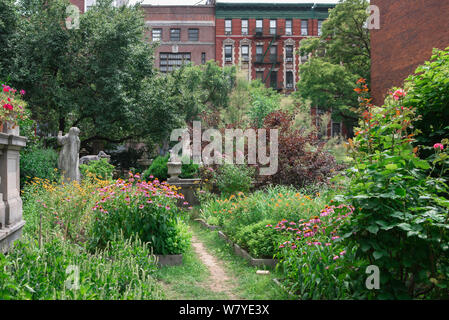
<svg viewBox="0 0 449 320">
<path fill-rule="evenodd" d="M 25 102 L 22 96 L 25 95 L 24 90 L 18 93 L 16 89 L 6 84 L 2 84 L 0 88 L 0 122 L 10 121 L 17 124 L 21 120 L 25 120 L 28 116 L 25 111 Z"/>
</svg>

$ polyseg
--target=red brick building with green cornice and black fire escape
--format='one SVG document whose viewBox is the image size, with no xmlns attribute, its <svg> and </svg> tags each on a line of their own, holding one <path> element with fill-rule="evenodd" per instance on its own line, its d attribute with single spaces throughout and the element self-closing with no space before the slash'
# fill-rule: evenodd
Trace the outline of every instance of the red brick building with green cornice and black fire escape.
<svg viewBox="0 0 449 320">
<path fill-rule="evenodd" d="M 303 2 L 217 1 L 215 55 L 219 65 L 238 65 L 247 71 L 248 79 L 260 79 L 277 90 L 295 90 L 298 67 L 307 60 L 296 54 L 300 41 L 318 36 L 328 10 L 335 7 Z"/>
</svg>

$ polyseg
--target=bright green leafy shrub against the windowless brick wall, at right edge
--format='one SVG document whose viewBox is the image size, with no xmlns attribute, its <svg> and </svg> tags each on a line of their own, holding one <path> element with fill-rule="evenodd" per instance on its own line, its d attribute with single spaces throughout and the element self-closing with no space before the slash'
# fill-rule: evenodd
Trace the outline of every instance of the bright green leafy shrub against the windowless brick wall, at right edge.
<svg viewBox="0 0 449 320">
<path fill-rule="evenodd" d="M 415 107 L 416 113 L 421 116 L 415 122 L 415 127 L 422 132 L 416 137 L 419 144 L 433 145 L 449 138 L 448 77 L 449 48 L 434 49 L 430 60 L 405 81 L 407 96 L 404 106 Z"/>
</svg>

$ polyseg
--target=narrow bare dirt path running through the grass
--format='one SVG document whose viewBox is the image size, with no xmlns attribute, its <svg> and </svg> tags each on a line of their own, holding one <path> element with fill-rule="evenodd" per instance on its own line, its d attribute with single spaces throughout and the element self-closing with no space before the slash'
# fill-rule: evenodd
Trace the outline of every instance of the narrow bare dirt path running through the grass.
<svg viewBox="0 0 449 320">
<path fill-rule="evenodd" d="M 224 292 L 231 300 L 239 299 L 232 293 L 234 286 L 231 283 L 231 278 L 228 277 L 226 271 L 220 266 L 218 260 L 209 254 L 204 247 L 204 244 L 198 240 L 195 235 L 192 236 L 192 247 L 200 260 L 210 271 L 210 278 L 208 286 L 213 292 Z"/>
</svg>

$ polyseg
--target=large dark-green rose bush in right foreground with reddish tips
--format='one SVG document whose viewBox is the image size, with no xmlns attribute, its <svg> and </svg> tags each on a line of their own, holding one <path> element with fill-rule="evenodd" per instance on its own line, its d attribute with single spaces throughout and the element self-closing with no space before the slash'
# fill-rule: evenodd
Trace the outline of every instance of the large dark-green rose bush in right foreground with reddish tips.
<svg viewBox="0 0 449 320">
<path fill-rule="evenodd" d="M 350 141 L 351 183 L 337 199 L 356 208 L 346 237 L 358 244 L 358 257 L 379 266 L 377 298 L 447 298 L 449 189 L 441 175 L 448 141 L 436 144 L 429 159 L 417 156 L 416 109 L 402 105 L 404 95 L 395 91 L 382 108 L 361 96 L 365 112 Z"/>
</svg>

